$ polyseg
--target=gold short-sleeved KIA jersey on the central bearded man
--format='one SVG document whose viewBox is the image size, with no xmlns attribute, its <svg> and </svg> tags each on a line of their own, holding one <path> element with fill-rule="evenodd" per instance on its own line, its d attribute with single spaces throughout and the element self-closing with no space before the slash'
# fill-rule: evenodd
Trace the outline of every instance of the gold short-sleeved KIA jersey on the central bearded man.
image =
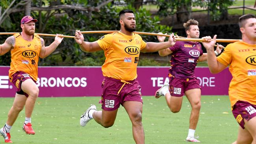
<svg viewBox="0 0 256 144">
<path fill-rule="evenodd" d="M 125 35 L 120 31 L 101 37 L 98 41 L 106 57 L 103 76 L 131 81 L 137 78 L 139 52 L 146 47 L 140 35 Z"/>
</svg>

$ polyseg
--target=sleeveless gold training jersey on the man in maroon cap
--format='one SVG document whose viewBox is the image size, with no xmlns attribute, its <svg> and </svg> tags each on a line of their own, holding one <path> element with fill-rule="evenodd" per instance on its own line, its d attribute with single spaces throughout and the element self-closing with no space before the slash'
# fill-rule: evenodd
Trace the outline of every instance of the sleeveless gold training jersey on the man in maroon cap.
<svg viewBox="0 0 256 144">
<path fill-rule="evenodd" d="M 15 37 L 15 45 L 11 50 L 11 68 L 9 70 L 9 78 L 17 71 L 26 72 L 37 81 L 38 76 L 38 59 L 41 50 L 41 40 L 39 35 L 34 34 L 32 41 L 24 40 L 20 33 L 13 35 Z"/>
</svg>

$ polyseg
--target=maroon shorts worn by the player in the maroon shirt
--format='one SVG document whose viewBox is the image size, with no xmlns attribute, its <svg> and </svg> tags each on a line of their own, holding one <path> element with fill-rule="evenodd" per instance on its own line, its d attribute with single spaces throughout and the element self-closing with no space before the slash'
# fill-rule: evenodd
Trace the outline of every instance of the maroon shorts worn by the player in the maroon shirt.
<svg viewBox="0 0 256 144">
<path fill-rule="evenodd" d="M 201 89 L 197 78 L 169 78 L 171 96 L 182 97 L 190 89 Z"/>
</svg>

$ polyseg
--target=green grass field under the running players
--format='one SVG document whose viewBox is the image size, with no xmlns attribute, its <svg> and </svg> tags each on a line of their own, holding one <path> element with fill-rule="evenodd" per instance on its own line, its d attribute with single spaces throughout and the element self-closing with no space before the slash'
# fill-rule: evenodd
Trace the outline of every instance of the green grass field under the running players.
<svg viewBox="0 0 256 144">
<path fill-rule="evenodd" d="M 133 144 L 132 125 L 123 107 L 114 126 L 104 128 L 91 120 L 79 124 L 80 115 L 100 97 L 38 98 L 33 112 L 35 135 L 22 131 L 24 110 L 11 129 L 17 144 Z M 146 144 L 188 144 L 184 139 L 189 127 L 191 107 L 184 97 L 180 113 L 171 113 L 164 98 L 143 96 L 143 126 Z M 202 107 L 195 135 L 202 144 L 230 144 L 236 140 L 238 124 L 230 111 L 228 96 L 202 96 Z M 0 124 L 6 122 L 13 98 L 0 98 Z M 1 126 L 1 127 L 2 127 Z M 4 139 L 0 139 L 4 143 Z"/>
</svg>

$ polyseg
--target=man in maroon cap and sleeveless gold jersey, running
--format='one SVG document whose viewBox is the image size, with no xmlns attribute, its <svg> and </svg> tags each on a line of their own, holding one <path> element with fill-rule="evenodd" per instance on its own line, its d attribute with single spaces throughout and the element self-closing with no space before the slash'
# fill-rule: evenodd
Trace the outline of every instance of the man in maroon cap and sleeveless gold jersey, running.
<svg viewBox="0 0 256 144">
<path fill-rule="evenodd" d="M 35 33 L 35 22 L 37 19 L 33 19 L 31 16 L 23 17 L 20 21 L 22 32 L 8 37 L 4 44 L 0 45 L 0 55 L 11 51 L 9 79 L 17 87 L 7 122 L 0 129 L 0 134 L 4 137 L 5 142 L 9 143 L 12 143 L 10 129 L 24 106 L 26 118 L 22 129 L 26 134 L 35 134 L 31 125 L 31 115 L 39 94 L 36 85 L 39 57 L 45 58 L 50 55 L 63 39 L 57 34 L 54 42 L 45 46 L 45 41 Z"/>
</svg>

